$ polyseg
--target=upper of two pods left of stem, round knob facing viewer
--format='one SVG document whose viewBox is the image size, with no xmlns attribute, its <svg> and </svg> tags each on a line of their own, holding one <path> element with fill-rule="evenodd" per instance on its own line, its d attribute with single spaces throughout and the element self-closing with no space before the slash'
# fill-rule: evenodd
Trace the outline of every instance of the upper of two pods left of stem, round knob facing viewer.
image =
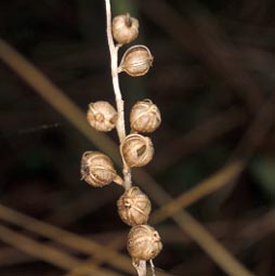
<svg viewBox="0 0 275 276">
<path fill-rule="evenodd" d="M 99 101 L 89 104 L 87 120 L 99 131 L 110 131 L 116 127 L 117 111 L 108 102 Z"/>
</svg>

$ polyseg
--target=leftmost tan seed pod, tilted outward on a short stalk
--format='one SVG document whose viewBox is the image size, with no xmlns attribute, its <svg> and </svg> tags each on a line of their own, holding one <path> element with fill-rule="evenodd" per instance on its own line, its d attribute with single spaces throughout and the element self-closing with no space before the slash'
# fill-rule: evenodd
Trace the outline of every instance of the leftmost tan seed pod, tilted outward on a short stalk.
<svg viewBox="0 0 275 276">
<path fill-rule="evenodd" d="M 120 176 L 117 175 L 112 160 L 104 154 L 99 152 L 86 152 L 81 159 L 82 179 L 94 187 L 103 187 L 115 181 L 122 183 Z"/>
</svg>

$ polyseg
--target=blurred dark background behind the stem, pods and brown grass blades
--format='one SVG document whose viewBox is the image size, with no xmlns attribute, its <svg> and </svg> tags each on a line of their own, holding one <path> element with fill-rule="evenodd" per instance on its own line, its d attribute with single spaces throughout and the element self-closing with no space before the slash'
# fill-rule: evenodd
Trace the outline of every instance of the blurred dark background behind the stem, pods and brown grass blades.
<svg viewBox="0 0 275 276">
<path fill-rule="evenodd" d="M 258 276 L 275 275 L 274 1 L 112 2 L 115 15 L 139 18 L 134 43 L 155 57 L 144 78 L 120 78 L 127 118 L 145 97 L 161 110 L 146 171 L 176 197 L 227 161 L 245 160 L 230 188 L 188 211 Z M 99 100 L 115 104 L 103 0 L 2 0 L 0 37 L 83 111 Z M 102 244 L 126 231 L 116 212 L 121 188 L 80 181 L 81 155 L 96 147 L 2 62 L 0 116 L 3 205 Z M 118 143 L 115 132 L 108 135 Z M 170 220 L 157 227 L 165 244 L 157 266 L 174 275 L 225 275 Z M 0 275 L 38 274 L 65 272 L 0 245 Z"/>
</svg>

